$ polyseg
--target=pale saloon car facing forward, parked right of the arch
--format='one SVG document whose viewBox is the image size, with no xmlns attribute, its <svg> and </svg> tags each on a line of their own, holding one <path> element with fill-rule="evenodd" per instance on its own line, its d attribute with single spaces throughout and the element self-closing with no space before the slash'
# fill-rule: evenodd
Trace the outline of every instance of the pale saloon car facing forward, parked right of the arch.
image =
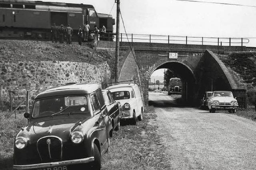
<svg viewBox="0 0 256 170">
<path fill-rule="evenodd" d="M 216 110 L 228 110 L 229 113 L 236 113 L 238 102 L 231 91 L 214 91 L 208 101 L 208 107 L 210 113 L 215 113 Z"/>
</svg>

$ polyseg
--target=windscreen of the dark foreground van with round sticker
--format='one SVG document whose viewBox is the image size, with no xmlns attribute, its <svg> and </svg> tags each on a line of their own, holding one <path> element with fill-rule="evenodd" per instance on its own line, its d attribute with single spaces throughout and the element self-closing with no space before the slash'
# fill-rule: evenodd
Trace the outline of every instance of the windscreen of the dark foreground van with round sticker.
<svg viewBox="0 0 256 170">
<path fill-rule="evenodd" d="M 86 96 L 64 96 L 34 101 L 32 117 L 47 117 L 62 114 L 85 114 L 90 116 Z"/>
</svg>

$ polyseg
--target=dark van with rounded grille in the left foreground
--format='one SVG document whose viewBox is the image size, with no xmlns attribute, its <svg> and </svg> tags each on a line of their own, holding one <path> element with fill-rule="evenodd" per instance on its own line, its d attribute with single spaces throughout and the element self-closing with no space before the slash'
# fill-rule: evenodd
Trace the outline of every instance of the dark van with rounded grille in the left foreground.
<svg viewBox="0 0 256 170">
<path fill-rule="evenodd" d="M 14 169 L 100 170 L 111 120 L 97 84 L 69 84 L 38 94 L 28 126 L 14 141 Z"/>
</svg>

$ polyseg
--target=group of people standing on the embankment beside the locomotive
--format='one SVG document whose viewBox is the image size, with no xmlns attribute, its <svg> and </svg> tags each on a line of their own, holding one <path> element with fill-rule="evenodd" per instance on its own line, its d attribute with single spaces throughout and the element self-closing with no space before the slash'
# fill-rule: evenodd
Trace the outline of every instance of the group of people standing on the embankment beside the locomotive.
<svg viewBox="0 0 256 170">
<path fill-rule="evenodd" d="M 83 27 L 79 26 L 78 27 L 78 43 L 79 45 L 82 45 L 82 42 L 88 42 L 89 36 L 90 36 L 90 26 L 88 22 L 86 22 Z M 58 38 L 60 43 L 64 43 L 64 39 L 66 39 L 67 44 L 72 43 L 72 36 L 73 36 L 73 28 L 70 26 L 70 24 L 67 25 L 66 28 L 64 28 L 64 25 L 61 24 L 60 26 L 56 26 L 56 24 L 53 24 L 51 28 L 51 33 L 52 33 L 52 42 L 58 43 Z M 94 25 L 94 41 L 99 40 L 100 33 L 106 33 L 106 28 L 105 26 L 102 27 L 101 30 L 98 29 L 96 25 Z"/>
</svg>

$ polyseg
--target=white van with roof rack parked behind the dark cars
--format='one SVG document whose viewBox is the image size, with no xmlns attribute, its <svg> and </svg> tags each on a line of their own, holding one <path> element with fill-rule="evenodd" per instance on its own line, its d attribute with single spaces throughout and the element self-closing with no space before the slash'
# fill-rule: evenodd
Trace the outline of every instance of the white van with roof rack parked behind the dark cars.
<svg viewBox="0 0 256 170">
<path fill-rule="evenodd" d="M 106 89 L 110 90 L 114 99 L 121 103 L 121 120 L 133 119 L 135 125 L 137 124 L 137 118 L 142 121 L 144 106 L 138 85 L 126 83 L 113 85 Z"/>
</svg>

